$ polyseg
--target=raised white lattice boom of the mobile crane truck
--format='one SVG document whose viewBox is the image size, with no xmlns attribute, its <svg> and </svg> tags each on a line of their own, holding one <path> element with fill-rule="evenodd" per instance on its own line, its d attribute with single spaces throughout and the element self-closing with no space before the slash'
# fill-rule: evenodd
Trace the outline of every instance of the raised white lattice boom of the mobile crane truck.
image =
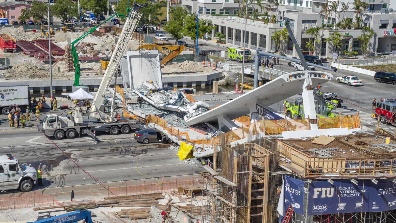
<svg viewBox="0 0 396 223">
<path fill-rule="evenodd" d="M 121 58 L 122 56 L 124 56 L 124 52 L 128 46 L 129 38 L 131 38 L 131 35 L 135 31 L 137 23 L 139 23 L 140 17 L 142 16 L 142 14 L 138 12 L 138 10 L 144 6 L 147 6 L 147 3 L 145 5 L 140 5 L 137 4 L 136 2 L 133 2 L 132 9 L 127 15 L 127 19 L 124 28 L 122 29 L 120 38 L 118 39 L 118 42 L 114 47 L 114 52 L 111 56 L 109 65 L 107 66 L 105 75 L 103 76 L 102 82 L 95 95 L 95 99 L 93 99 L 92 107 L 91 110 L 89 111 L 89 116 L 94 117 L 99 121 L 106 123 L 116 121 L 114 117 L 111 117 L 110 115 L 107 115 L 106 113 L 99 111 L 99 108 L 105 100 L 105 96 L 106 96 L 105 93 L 107 91 L 107 88 L 110 86 L 114 74 L 118 72 L 118 66 L 120 65 Z M 115 84 L 116 83 L 114 83 L 114 85 Z"/>
</svg>

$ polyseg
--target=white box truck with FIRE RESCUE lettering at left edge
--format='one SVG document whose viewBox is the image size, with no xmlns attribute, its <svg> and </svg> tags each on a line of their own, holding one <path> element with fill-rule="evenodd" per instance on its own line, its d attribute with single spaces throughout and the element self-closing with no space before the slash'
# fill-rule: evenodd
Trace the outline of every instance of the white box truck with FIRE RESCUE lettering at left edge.
<svg viewBox="0 0 396 223">
<path fill-rule="evenodd" d="M 29 85 L 26 83 L 0 83 L 0 111 L 3 115 L 10 113 L 10 106 L 18 106 L 25 112 L 30 107 Z"/>
</svg>

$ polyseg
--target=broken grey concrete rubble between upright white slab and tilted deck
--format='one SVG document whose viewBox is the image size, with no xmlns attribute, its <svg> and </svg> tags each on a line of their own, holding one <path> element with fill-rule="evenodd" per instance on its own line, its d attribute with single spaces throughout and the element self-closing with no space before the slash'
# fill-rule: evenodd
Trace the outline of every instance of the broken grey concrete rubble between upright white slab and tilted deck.
<svg viewBox="0 0 396 223">
<path fill-rule="evenodd" d="M 170 124 L 176 119 L 180 126 L 187 126 L 185 121 L 209 110 L 209 105 L 205 102 L 190 102 L 183 92 L 171 89 L 159 88 L 154 84 L 144 82 L 140 87 L 125 92 L 124 94 L 129 97 L 132 97 L 133 94 L 142 96 L 144 99 L 142 108 L 148 110 L 147 113 L 144 113 L 146 111 L 143 112 L 142 108 L 139 108 L 139 104 L 135 104 L 128 106 L 128 112 L 135 115 L 139 115 L 139 113 L 158 115 Z"/>
</svg>

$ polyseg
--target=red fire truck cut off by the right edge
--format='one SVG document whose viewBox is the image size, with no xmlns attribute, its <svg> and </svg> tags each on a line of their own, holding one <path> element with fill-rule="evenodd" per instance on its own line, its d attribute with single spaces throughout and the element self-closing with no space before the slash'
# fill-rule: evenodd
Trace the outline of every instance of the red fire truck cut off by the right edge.
<svg viewBox="0 0 396 223">
<path fill-rule="evenodd" d="M 377 102 L 375 111 L 371 116 L 375 117 L 383 124 L 390 123 L 396 126 L 396 99 L 385 99 L 383 101 Z"/>
</svg>

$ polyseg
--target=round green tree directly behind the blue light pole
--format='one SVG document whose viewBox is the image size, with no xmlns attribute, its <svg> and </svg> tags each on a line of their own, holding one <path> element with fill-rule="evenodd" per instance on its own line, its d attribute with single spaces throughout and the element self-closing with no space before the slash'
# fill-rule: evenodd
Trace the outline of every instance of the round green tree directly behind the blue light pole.
<svg viewBox="0 0 396 223">
<path fill-rule="evenodd" d="M 197 15 L 192 14 L 187 16 L 184 20 L 183 25 L 183 34 L 187 37 L 190 37 L 192 41 L 195 42 L 197 35 Z M 199 19 L 198 20 L 198 37 L 203 36 L 205 33 L 209 33 L 212 31 L 212 27 L 206 25 L 206 20 Z"/>
</svg>

